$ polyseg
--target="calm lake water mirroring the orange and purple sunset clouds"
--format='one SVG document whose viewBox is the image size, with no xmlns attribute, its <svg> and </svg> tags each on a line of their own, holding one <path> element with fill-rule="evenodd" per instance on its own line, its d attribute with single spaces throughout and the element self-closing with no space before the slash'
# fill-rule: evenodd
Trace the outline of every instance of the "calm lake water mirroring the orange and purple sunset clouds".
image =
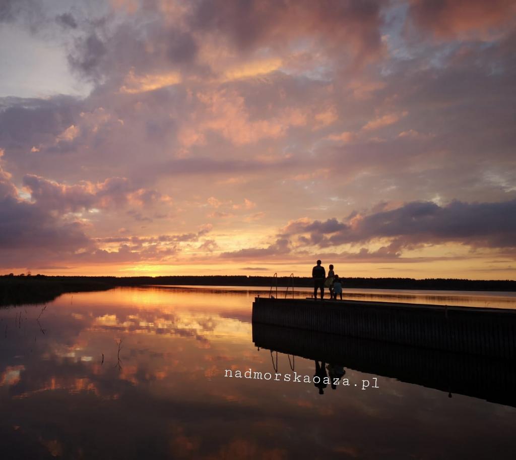
<svg viewBox="0 0 516 460">
<path fill-rule="evenodd" d="M 266 291 L 123 288 L 65 295 L 46 308 L 0 310 L 0 455 L 514 458 L 514 399 L 493 393 L 489 384 L 476 385 L 477 377 L 489 383 L 489 366 L 460 382 L 454 377 L 449 388 L 439 390 L 436 382 L 447 385 L 446 376 L 385 366 L 374 368 L 377 374 L 364 373 L 345 362 L 325 363 L 333 375 L 345 371 L 335 389 L 283 377 L 224 377 L 225 369 L 249 368 L 272 376 L 316 374 L 314 360 L 253 344 L 251 303 Z M 347 295 L 516 306 L 511 294 L 361 290 Z M 273 331 L 274 337 L 281 332 Z M 373 356 L 383 345 L 363 346 Z M 497 369 L 499 379 L 504 368 Z M 342 385 L 344 378 L 349 386 Z M 374 378 L 378 388 L 372 388 Z M 363 380 L 370 383 L 365 390 Z"/>
</svg>

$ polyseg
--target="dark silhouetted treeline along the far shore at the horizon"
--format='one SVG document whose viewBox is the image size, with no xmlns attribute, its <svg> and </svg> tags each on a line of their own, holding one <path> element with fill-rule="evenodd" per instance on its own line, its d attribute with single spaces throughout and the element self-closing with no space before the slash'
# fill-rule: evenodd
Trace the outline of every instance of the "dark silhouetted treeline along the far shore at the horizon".
<svg viewBox="0 0 516 460">
<path fill-rule="evenodd" d="M 116 286 L 137 286 L 143 284 L 176 284 L 176 285 L 208 285 L 208 286 L 252 286 L 252 287 L 286 287 L 311 288 L 313 280 L 310 277 L 274 278 L 271 276 L 13 276 L 0 277 L 0 299 L 2 285 L 7 282 L 22 283 L 23 285 L 54 285 L 56 289 L 65 289 L 63 292 L 108 289 Z M 355 289 L 422 289 L 444 291 L 516 291 L 514 280 L 468 280 L 453 278 L 342 278 L 345 288 Z M 14 284 L 11 285 L 14 287 Z M 0 300 L 1 301 L 1 300 Z"/>
</svg>

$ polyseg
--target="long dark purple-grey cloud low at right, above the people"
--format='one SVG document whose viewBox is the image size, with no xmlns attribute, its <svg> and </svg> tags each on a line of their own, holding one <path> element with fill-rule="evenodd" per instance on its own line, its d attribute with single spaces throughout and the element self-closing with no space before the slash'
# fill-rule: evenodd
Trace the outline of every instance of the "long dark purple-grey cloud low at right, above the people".
<svg viewBox="0 0 516 460">
<path fill-rule="evenodd" d="M 332 219 L 330 219 L 332 220 Z M 392 241 L 385 251 L 418 244 L 461 243 L 474 247 L 516 247 L 516 200 L 495 203 L 453 201 L 440 206 L 433 202 L 410 202 L 390 211 L 357 214 L 342 228 L 336 225 L 295 222 L 284 231 L 310 233 L 310 243 L 320 247 Z M 308 242 L 308 241 L 307 241 Z"/>
</svg>

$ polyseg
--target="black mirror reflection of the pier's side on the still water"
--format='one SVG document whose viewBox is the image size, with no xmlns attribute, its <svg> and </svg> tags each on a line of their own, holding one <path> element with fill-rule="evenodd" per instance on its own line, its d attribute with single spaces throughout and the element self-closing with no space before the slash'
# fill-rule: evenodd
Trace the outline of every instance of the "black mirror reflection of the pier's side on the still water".
<svg viewBox="0 0 516 460">
<path fill-rule="evenodd" d="M 513 360 L 259 323 L 253 323 L 252 340 L 259 348 L 315 361 L 316 374 L 331 372 L 338 376 L 347 368 L 441 390 L 448 396 L 462 394 L 516 407 Z M 321 361 L 329 363 L 324 370 Z M 319 392 L 322 390 L 327 391 L 319 388 Z"/>
</svg>

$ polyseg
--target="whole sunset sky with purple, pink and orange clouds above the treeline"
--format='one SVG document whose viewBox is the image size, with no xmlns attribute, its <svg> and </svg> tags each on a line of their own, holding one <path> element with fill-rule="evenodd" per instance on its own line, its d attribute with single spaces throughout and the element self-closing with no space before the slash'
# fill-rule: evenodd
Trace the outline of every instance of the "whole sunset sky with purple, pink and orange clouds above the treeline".
<svg viewBox="0 0 516 460">
<path fill-rule="evenodd" d="M 516 279 L 510 0 L 2 0 L 0 274 Z"/>
</svg>

